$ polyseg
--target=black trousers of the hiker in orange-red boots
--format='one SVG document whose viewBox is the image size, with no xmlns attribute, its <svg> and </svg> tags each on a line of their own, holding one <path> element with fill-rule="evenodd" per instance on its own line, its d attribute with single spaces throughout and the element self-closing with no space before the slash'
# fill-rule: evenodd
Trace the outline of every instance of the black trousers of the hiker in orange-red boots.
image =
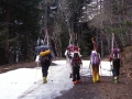
<svg viewBox="0 0 132 99">
<path fill-rule="evenodd" d="M 80 79 L 79 69 L 80 69 L 80 66 L 73 66 L 73 81 Z"/>
</svg>

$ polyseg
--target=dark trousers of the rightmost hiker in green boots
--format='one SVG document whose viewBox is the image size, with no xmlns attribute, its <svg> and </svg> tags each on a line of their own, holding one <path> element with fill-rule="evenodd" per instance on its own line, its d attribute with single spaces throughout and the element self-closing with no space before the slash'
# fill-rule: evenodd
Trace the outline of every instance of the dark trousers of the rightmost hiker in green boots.
<svg viewBox="0 0 132 99">
<path fill-rule="evenodd" d="M 120 75 L 120 59 L 113 59 L 113 69 L 112 69 L 113 77 Z"/>
</svg>

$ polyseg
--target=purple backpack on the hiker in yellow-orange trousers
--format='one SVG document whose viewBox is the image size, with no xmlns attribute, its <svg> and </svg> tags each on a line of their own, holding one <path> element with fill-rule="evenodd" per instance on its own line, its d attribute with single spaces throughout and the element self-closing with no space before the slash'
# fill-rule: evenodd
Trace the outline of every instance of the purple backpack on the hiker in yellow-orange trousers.
<svg viewBox="0 0 132 99">
<path fill-rule="evenodd" d="M 91 57 L 91 65 L 99 65 L 100 64 L 99 53 L 92 52 L 90 57 Z"/>
</svg>

